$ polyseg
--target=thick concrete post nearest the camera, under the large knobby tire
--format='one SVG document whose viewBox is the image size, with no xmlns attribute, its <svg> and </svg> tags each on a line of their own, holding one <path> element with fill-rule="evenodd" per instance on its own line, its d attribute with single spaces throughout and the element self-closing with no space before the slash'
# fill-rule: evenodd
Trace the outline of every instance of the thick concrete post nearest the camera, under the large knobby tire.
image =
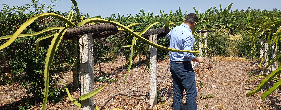
<svg viewBox="0 0 281 110">
<path fill-rule="evenodd" d="M 94 62 L 92 33 L 79 35 L 81 95 L 94 91 Z M 81 101 L 82 106 L 94 105 L 94 96 Z M 94 106 L 81 110 L 94 110 Z"/>
</svg>

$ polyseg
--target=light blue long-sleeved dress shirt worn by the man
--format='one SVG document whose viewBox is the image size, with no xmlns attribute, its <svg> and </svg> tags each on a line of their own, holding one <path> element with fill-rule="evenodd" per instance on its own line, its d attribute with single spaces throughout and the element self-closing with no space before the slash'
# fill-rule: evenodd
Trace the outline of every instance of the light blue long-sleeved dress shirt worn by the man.
<svg viewBox="0 0 281 110">
<path fill-rule="evenodd" d="M 195 39 L 187 24 L 182 23 L 182 25 L 176 26 L 167 34 L 167 37 L 171 39 L 169 48 L 177 50 L 193 50 L 192 48 Z M 172 61 L 191 61 L 195 57 L 193 53 L 173 51 L 169 51 L 169 56 Z"/>
</svg>

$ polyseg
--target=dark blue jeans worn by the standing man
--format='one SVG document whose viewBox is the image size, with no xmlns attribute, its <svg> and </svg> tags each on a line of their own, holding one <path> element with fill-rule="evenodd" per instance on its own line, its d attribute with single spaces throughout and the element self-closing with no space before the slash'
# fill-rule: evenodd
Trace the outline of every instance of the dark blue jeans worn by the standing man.
<svg viewBox="0 0 281 110">
<path fill-rule="evenodd" d="M 197 110 L 197 89 L 195 73 L 190 62 L 170 61 L 170 71 L 173 77 L 174 94 L 173 104 L 175 110 L 182 110 L 183 89 L 186 93 L 186 110 Z"/>
</svg>

